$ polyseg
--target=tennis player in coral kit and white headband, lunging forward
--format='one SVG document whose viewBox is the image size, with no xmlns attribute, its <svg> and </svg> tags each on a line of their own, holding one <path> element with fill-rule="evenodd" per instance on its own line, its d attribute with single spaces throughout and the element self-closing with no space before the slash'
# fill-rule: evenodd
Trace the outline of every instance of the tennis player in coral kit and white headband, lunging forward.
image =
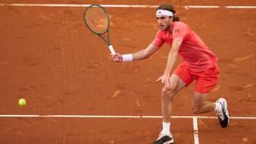
<svg viewBox="0 0 256 144">
<path fill-rule="evenodd" d="M 209 91 L 218 84 L 218 58 L 212 53 L 201 37 L 193 32 L 189 26 L 179 21 L 176 11 L 170 4 L 160 4 L 156 11 L 156 18 L 160 30 L 153 42 L 146 49 L 133 54 L 111 55 L 113 61 L 143 60 L 153 55 L 164 44 L 168 43 L 172 49 L 168 55 L 166 70 L 157 81 L 164 84 L 162 89 L 163 129 L 154 144 L 172 144 L 174 140 L 170 132 L 172 99 L 180 89 L 195 80 L 192 111 L 195 114 L 213 112 L 218 114 L 219 124 L 225 128 L 230 121 L 227 101 L 224 98 L 216 102 L 205 101 Z M 172 72 L 172 67 L 180 55 L 182 62 Z"/>
</svg>

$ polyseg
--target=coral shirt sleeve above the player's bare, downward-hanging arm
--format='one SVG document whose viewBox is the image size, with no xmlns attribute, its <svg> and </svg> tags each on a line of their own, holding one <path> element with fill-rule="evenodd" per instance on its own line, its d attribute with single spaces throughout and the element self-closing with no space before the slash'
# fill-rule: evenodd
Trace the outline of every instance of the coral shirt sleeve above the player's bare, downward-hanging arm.
<svg viewBox="0 0 256 144">
<path fill-rule="evenodd" d="M 185 24 L 180 24 L 173 27 L 172 37 L 173 39 L 183 40 L 188 34 L 188 27 Z"/>
</svg>

